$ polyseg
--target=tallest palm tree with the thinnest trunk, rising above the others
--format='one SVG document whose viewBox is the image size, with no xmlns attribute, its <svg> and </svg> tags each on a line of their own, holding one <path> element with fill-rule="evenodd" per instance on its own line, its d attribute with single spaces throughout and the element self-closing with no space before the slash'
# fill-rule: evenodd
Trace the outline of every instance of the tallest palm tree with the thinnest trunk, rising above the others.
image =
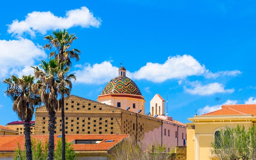
<svg viewBox="0 0 256 160">
<path fill-rule="evenodd" d="M 55 50 L 50 53 L 49 57 L 55 57 L 58 60 L 58 64 L 65 62 L 65 66 L 71 67 L 71 59 L 79 61 L 79 54 L 81 53 L 78 49 L 70 49 L 72 42 L 77 39 L 74 34 L 69 34 L 65 29 L 63 31 L 53 31 L 52 35 L 47 35 L 44 39 L 49 40 L 49 44 L 43 46 L 49 50 L 53 47 Z M 64 66 L 63 66 L 64 67 Z M 62 68 L 63 69 L 63 68 Z M 64 77 L 61 77 L 65 79 Z M 59 90 L 61 94 L 61 119 L 62 119 L 62 159 L 65 160 L 65 114 L 64 114 L 64 96 L 70 95 L 65 90 Z"/>
</svg>

